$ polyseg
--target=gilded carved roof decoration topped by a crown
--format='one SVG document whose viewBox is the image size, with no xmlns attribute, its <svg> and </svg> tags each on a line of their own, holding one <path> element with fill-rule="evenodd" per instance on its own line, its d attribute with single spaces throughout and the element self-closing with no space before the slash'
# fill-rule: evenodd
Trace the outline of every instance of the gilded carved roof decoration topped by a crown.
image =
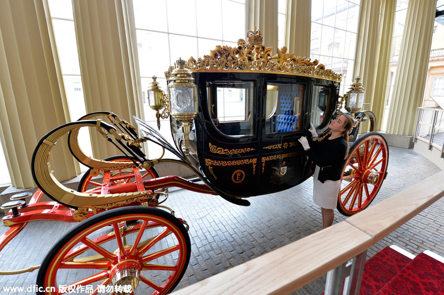
<svg viewBox="0 0 444 295">
<path fill-rule="evenodd" d="M 237 47 L 218 45 L 210 50 L 209 55 L 194 59 L 190 57 L 185 62 L 185 67 L 196 71 L 264 71 L 274 73 L 289 73 L 302 76 L 319 77 L 340 82 L 342 74 L 337 74 L 331 69 L 326 69 L 318 60 L 296 57 L 293 53 L 287 53 L 288 48 L 283 46 L 277 49 L 277 54 L 272 55 L 272 47 L 262 45 L 262 33 L 255 28 L 247 32 L 247 42 L 244 39 L 237 41 Z M 170 66 L 165 76 L 168 79 L 177 65 Z"/>
</svg>

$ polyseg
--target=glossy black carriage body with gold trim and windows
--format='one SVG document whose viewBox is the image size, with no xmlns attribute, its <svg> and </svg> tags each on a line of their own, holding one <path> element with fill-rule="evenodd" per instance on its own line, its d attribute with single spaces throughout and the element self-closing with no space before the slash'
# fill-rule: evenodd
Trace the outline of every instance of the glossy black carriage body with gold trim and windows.
<svg viewBox="0 0 444 295">
<path fill-rule="evenodd" d="M 339 83 L 292 74 L 194 72 L 198 114 L 191 154 L 218 190 L 251 197 L 289 189 L 312 175 L 297 139 L 310 122 L 327 130 Z M 227 102 L 228 101 L 228 102 Z M 178 149 L 180 122 L 171 119 Z"/>
</svg>

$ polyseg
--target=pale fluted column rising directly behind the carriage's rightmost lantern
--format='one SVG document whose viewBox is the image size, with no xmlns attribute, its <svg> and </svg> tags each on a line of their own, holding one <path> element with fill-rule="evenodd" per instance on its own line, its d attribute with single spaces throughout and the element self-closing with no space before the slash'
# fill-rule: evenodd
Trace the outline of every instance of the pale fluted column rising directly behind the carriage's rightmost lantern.
<svg viewBox="0 0 444 295">
<path fill-rule="evenodd" d="M 359 18 L 353 78 L 361 77 L 366 92 L 365 103 L 371 103 L 374 93 L 380 7 L 381 0 L 363 0 Z M 368 106 L 365 105 L 365 109 L 369 109 Z"/>
</svg>

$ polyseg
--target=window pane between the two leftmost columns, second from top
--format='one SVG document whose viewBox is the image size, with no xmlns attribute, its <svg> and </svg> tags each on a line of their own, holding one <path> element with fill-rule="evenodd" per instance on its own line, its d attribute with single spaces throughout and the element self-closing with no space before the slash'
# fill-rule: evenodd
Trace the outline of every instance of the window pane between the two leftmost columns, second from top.
<svg viewBox="0 0 444 295">
<path fill-rule="evenodd" d="M 53 19 L 52 25 L 62 74 L 80 75 L 74 22 Z"/>
</svg>

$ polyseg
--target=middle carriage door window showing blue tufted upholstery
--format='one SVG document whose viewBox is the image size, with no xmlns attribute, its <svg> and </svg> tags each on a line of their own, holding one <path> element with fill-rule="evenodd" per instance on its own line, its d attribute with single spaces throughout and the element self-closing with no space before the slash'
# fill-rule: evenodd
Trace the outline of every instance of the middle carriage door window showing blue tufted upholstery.
<svg viewBox="0 0 444 295">
<path fill-rule="evenodd" d="M 265 106 L 267 133 L 300 130 L 304 85 L 268 83 Z"/>
</svg>

